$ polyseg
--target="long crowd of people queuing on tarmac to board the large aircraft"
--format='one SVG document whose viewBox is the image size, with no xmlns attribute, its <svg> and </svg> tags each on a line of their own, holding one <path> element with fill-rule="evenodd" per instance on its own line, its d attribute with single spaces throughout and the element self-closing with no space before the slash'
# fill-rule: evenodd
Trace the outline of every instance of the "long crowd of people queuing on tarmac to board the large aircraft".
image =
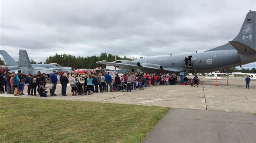
<svg viewBox="0 0 256 143">
<path fill-rule="evenodd" d="M 112 74 L 109 72 L 88 72 L 83 74 L 83 78 L 78 79 L 78 75 L 71 73 L 71 79 L 66 73 L 59 73 L 59 82 L 62 85 L 61 95 L 66 95 L 67 85 L 70 82 L 71 95 L 76 96 L 77 94 L 77 83 L 84 82 L 86 86 L 86 92 L 89 95 L 97 92 L 118 92 L 120 90 L 131 92 L 131 90 L 144 90 L 148 86 L 158 85 L 176 85 L 177 75 L 173 74 L 141 74 L 141 73 L 124 73 L 121 76 L 119 74 Z M 249 80 L 246 78 L 246 88 L 249 88 Z M 50 85 L 46 85 L 46 80 L 50 80 Z M 194 78 L 186 78 L 191 86 L 198 87 L 199 78 L 197 75 Z M 40 97 L 47 97 L 47 89 L 50 89 L 50 96 L 57 96 L 55 90 L 57 87 L 58 78 L 56 71 L 53 71 L 49 76 L 45 76 L 45 73 L 38 71 L 38 74 L 28 74 L 26 78 L 21 73 L 21 70 L 15 74 L 0 72 L 0 93 L 14 94 L 14 96 L 25 95 L 24 86 L 27 85 L 27 95 Z"/>
</svg>

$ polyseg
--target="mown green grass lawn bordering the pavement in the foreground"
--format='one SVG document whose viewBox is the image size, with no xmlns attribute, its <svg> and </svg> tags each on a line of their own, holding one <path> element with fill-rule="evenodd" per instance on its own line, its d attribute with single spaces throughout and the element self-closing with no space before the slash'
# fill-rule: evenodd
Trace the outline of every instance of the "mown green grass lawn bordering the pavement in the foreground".
<svg viewBox="0 0 256 143">
<path fill-rule="evenodd" d="M 168 109 L 0 97 L 0 142 L 139 143 Z"/>
</svg>

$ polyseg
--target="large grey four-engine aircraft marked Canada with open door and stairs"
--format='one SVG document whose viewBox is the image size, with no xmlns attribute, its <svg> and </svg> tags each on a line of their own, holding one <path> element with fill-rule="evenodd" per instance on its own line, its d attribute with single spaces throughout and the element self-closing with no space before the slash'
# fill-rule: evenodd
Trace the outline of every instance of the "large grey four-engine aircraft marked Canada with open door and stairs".
<svg viewBox="0 0 256 143">
<path fill-rule="evenodd" d="M 127 72 L 177 72 L 190 69 L 190 72 L 209 72 L 256 62 L 256 12 L 248 12 L 242 28 L 232 41 L 216 48 L 191 54 L 166 55 L 154 58 L 141 58 L 134 61 L 98 61 L 97 64 L 114 65 Z M 188 56 L 188 65 L 184 59 Z"/>
</svg>

